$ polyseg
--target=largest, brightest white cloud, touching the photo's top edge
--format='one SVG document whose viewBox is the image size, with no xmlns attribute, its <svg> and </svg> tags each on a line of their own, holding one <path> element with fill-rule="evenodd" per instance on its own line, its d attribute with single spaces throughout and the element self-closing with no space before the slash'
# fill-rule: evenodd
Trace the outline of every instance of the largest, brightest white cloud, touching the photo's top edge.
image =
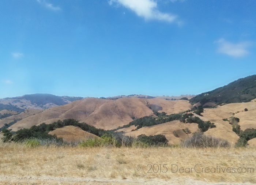
<svg viewBox="0 0 256 185">
<path fill-rule="evenodd" d="M 125 8 L 132 10 L 138 16 L 143 17 L 146 20 L 156 19 L 167 22 L 175 22 L 177 20 L 176 15 L 159 11 L 157 2 L 153 0 L 109 0 L 110 5 L 113 3 L 123 5 Z"/>
</svg>

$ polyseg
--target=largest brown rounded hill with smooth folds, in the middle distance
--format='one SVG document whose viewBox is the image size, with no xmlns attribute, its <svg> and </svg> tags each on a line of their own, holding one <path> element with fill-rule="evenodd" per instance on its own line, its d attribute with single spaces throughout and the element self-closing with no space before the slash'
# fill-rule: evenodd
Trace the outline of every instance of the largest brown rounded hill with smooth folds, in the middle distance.
<svg viewBox="0 0 256 185">
<path fill-rule="evenodd" d="M 151 109 L 152 107 L 160 109 L 159 112 L 172 114 L 191 109 L 192 105 L 186 100 L 170 101 L 161 98 L 84 98 L 26 117 L 10 128 L 17 131 L 20 128 L 30 128 L 42 122 L 49 124 L 57 120 L 74 118 L 97 128 L 114 129 L 128 124 L 132 121 L 132 117 L 152 116 L 153 110 L 150 107 Z"/>
</svg>

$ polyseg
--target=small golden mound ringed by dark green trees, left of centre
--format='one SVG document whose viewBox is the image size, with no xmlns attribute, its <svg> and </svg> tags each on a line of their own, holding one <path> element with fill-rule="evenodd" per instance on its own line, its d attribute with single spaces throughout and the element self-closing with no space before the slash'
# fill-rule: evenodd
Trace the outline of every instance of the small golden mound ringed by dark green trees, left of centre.
<svg viewBox="0 0 256 185">
<path fill-rule="evenodd" d="M 49 134 L 51 135 L 55 134 L 57 137 L 63 138 L 64 141 L 83 141 L 86 139 L 94 139 L 94 138 L 100 139 L 100 137 L 92 133 L 83 131 L 81 128 L 74 127 L 72 125 L 69 125 L 63 128 L 57 128 L 54 131 L 49 132 Z"/>
</svg>

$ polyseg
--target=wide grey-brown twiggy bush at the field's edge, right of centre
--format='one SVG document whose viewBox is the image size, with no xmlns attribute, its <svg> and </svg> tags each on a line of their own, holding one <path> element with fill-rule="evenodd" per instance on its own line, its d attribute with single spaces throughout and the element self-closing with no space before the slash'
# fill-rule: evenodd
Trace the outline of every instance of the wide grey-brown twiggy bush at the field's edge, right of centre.
<svg viewBox="0 0 256 185">
<path fill-rule="evenodd" d="M 197 131 L 193 136 L 182 143 L 185 147 L 229 147 L 227 140 L 215 138 L 212 136 L 205 136 L 202 132 Z"/>
</svg>

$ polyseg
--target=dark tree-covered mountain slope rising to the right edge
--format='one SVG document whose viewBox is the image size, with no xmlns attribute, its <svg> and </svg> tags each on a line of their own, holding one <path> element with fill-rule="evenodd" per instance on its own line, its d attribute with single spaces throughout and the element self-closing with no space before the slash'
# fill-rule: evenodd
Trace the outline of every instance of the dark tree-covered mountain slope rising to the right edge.
<svg viewBox="0 0 256 185">
<path fill-rule="evenodd" d="M 226 86 L 199 94 L 190 99 L 196 106 L 214 106 L 222 103 L 249 102 L 256 98 L 256 75 L 238 79 Z"/>
</svg>

